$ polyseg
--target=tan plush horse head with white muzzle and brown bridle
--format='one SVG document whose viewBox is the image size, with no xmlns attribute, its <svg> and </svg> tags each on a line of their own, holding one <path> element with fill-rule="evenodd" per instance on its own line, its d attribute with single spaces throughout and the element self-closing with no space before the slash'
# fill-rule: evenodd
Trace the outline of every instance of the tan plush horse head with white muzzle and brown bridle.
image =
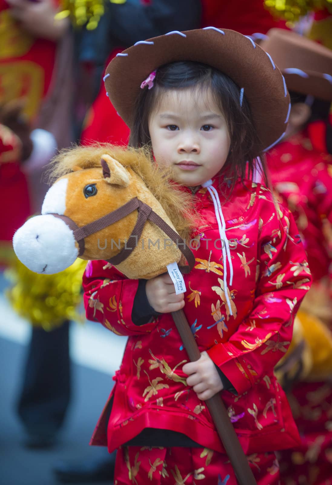
<svg viewBox="0 0 332 485">
<path fill-rule="evenodd" d="M 42 214 L 14 236 L 16 256 L 31 271 L 58 273 L 77 257 L 105 259 L 129 278 L 151 278 L 193 259 L 190 196 L 151 163 L 144 150 L 108 144 L 63 150 Z"/>
</svg>

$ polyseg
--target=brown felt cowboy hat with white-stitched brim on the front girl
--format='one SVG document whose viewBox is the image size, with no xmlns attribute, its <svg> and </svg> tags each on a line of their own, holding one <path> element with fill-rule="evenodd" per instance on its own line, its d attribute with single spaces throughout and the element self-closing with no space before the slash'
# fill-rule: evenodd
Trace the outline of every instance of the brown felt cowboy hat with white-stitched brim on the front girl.
<svg viewBox="0 0 332 485">
<path fill-rule="evenodd" d="M 106 91 L 129 128 L 142 81 L 161 65 L 176 61 L 211 65 L 243 88 L 265 149 L 285 132 L 290 105 L 279 69 L 251 38 L 215 27 L 173 31 L 136 42 L 109 63 L 104 78 Z"/>
</svg>

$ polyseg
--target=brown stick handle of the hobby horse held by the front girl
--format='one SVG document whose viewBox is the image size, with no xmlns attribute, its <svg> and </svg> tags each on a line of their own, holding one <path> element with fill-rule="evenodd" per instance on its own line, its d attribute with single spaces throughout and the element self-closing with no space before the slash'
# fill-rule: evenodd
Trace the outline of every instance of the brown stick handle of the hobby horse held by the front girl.
<svg viewBox="0 0 332 485">
<path fill-rule="evenodd" d="M 195 362 L 200 358 L 200 352 L 183 310 L 173 311 L 172 317 L 190 360 Z M 221 442 L 224 445 L 229 461 L 234 469 L 239 485 L 257 485 L 247 457 L 242 450 L 240 441 L 236 436 L 233 425 L 228 417 L 220 393 L 215 394 L 211 399 L 208 399 L 205 402 L 215 427 L 217 428 Z"/>
</svg>

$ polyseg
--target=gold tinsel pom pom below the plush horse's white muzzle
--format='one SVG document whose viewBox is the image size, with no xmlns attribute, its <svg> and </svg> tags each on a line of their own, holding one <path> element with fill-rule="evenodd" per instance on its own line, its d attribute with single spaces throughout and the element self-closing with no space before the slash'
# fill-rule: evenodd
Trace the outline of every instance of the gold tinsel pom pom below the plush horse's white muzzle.
<svg viewBox="0 0 332 485">
<path fill-rule="evenodd" d="M 87 261 L 76 259 L 69 268 L 55 275 L 39 275 L 18 259 L 6 276 L 13 286 L 7 297 L 15 311 L 32 325 L 52 330 L 64 320 L 83 321 L 77 312 L 82 301 L 82 275 Z"/>
</svg>

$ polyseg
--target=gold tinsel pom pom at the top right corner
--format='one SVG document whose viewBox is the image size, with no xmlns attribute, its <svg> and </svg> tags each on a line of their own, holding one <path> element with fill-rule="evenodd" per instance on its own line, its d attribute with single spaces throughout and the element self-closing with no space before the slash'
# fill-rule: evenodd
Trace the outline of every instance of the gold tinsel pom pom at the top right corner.
<svg viewBox="0 0 332 485">
<path fill-rule="evenodd" d="M 264 0 L 264 6 L 273 16 L 287 20 L 288 27 L 309 12 L 327 9 L 332 13 L 332 0 Z"/>
</svg>

